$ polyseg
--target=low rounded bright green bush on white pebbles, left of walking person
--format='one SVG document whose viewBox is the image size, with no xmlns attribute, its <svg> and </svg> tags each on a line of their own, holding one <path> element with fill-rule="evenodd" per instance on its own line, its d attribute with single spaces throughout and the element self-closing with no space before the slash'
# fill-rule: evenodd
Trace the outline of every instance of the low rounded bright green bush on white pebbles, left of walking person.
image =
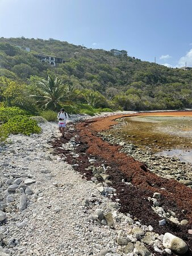
<svg viewBox="0 0 192 256">
<path fill-rule="evenodd" d="M 24 134 L 30 135 L 31 133 L 40 133 L 41 128 L 37 125 L 35 120 L 29 117 L 16 115 L 8 120 L 1 126 L 9 134 Z"/>
</svg>

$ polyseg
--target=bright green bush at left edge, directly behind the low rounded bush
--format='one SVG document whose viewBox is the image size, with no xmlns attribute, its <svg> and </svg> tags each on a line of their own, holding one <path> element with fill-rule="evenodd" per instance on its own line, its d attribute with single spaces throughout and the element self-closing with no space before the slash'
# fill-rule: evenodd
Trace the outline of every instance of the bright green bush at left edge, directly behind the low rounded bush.
<svg viewBox="0 0 192 256">
<path fill-rule="evenodd" d="M 0 122 L 7 122 L 9 118 L 15 117 L 15 115 L 27 115 L 27 112 L 18 107 L 0 108 Z"/>
</svg>

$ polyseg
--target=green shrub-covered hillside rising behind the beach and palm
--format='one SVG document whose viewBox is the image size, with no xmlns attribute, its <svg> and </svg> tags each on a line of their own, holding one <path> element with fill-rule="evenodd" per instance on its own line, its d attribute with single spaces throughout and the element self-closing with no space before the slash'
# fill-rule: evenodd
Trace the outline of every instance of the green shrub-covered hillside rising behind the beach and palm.
<svg viewBox="0 0 192 256">
<path fill-rule="evenodd" d="M 16 46 L 29 47 L 31 51 Z M 41 63 L 35 53 L 60 57 L 67 62 L 52 67 Z M 22 86 L 22 97 L 23 91 L 25 95 L 40 93 L 39 81 L 46 79 L 48 73 L 60 77 L 68 89 L 73 88 L 73 97 L 68 97 L 68 102 L 61 101 L 60 105 L 89 104 L 94 108 L 124 110 L 192 106 L 192 70 L 167 68 L 134 57 L 115 57 L 103 49 L 87 49 L 59 40 L 0 38 L 0 100 L 5 104 L 18 106 L 13 95 L 12 100 L 5 97 L 2 89 L 6 87 L 5 77 L 9 83 Z M 27 102 L 19 105 L 22 106 L 27 109 Z"/>
</svg>

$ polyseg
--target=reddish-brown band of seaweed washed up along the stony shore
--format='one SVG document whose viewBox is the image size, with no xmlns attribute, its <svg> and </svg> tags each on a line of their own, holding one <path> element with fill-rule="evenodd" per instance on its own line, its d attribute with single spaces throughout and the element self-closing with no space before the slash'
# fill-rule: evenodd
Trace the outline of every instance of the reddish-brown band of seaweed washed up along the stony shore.
<svg viewBox="0 0 192 256">
<path fill-rule="evenodd" d="M 191 189 L 187 188 L 185 185 L 178 183 L 178 181 L 163 179 L 162 177 L 158 177 L 155 174 L 152 174 L 152 172 L 150 172 L 143 163 L 137 162 L 132 157 L 128 157 L 126 154 L 119 152 L 119 149 L 121 148 L 120 146 L 111 146 L 110 144 L 104 142 L 101 138 L 99 138 L 98 131 L 108 129 L 108 127 L 115 124 L 115 119 L 120 117 L 122 117 L 122 115 L 91 118 L 84 122 L 77 123 L 73 127 L 73 131 L 70 131 L 69 137 L 67 138 L 66 142 L 70 141 L 70 139 L 73 138 L 73 143 L 77 144 L 78 147 L 74 146 L 75 148 L 73 148 L 73 151 L 71 151 L 70 147 L 61 147 L 60 145 L 62 144 L 62 142 L 56 140 L 55 143 L 53 143 L 53 146 L 56 150 L 55 154 L 59 154 L 61 156 L 65 155 L 66 161 L 70 164 L 73 164 L 73 168 L 76 171 L 81 172 L 81 174 L 84 175 L 87 180 L 94 179 L 94 175 L 91 171 L 92 167 L 90 167 L 91 164 L 89 163 L 89 158 L 95 159 L 94 168 L 97 168 L 98 164 L 99 166 L 101 166 L 102 163 L 107 164 L 110 167 L 106 172 L 106 174 L 110 176 L 108 184 L 112 184 L 112 188 L 116 189 L 115 194 L 117 194 L 116 196 L 113 195 L 111 199 L 112 201 L 119 201 L 121 205 L 120 212 L 131 213 L 132 216 L 136 216 L 136 218 L 138 217 L 139 220 L 141 220 L 141 223 L 145 225 L 149 225 L 149 222 L 153 223 L 152 226 L 155 226 L 155 230 L 158 233 L 172 232 L 181 238 L 187 236 L 186 228 L 190 229 L 190 224 L 185 227 L 180 226 L 180 232 L 176 232 L 173 226 L 180 225 L 181 218 L 187 218 L 189 221 L 191 221 Z M 128 160 L 128 162 L 126 162 L 126 159 Z M 126 171 L 126 169 L 124 169 L 124 167 L 128 169 L 128 172 Z M 117 168 L 119 170 L 117 170 Z M 102 181 L 102 179 L 99 179 L 98 177 L 98 182 L 100 181 Z M 133 187 L 131 186 L 132 188 L 128 188 L 127 185 L 123 182 L 125 182 L 126 184 L 127 182 L 131 183 Z M 155 183 L 156 185 L 153 183 Z M 104 191 L 105 193 L 105 185 L 103 187 L 103 185 L 101 184 L 100 189 L 102 192 Z M 130 189 L 133 189 L 132 192 L 130 192 Z M 146 189 L 148 189 L 148 192 Z M 158 205 L 161 205 L 161 209 L 162 207 L 164 207 L 166 210 L 172 209 L 175 217 L 167 215 L 169 213 L 165 213 L 166 210 L 164 211 L 164 209 L 160 214 L 157 214 L 157 212 L 159 213 L 159 207 L 151 206 L 151 199 L 149 199 L 152 198 L 151 192 L 161 193 L 162 199 L 160 200 Z M 140 200 L 140 193 L 146 195 L 149 199 L 149 202 L 147 202 L 145 198 L 144 200 Z M 137 198 L 136 200 L 133 200 L 134 195 Z M 130 205 L 127 205 L 126 198 L 129 198 L 129 200 L 132 201 L 129 202 L 129 204 L 131 203 L 131 208 Z M 177 201 L 177 206 L 173 206 L 172 200 Z M 140 208 L 137 208 L 138 203 L 140 205 Z M 147 204 L 148 207 L 146 207 Z M 189 207 L 188 209 L 187 204 Z M 181 212 L 181 210 L 183 209 L 187 210 Z M 143 216 L 142 211 L 147 214 L 148 219 Z M 163 213 L 163 211 L 165 214 Z M 168 221 L 168 226 L 159 226 L 158 221 L 161 220 L 162 217 L 166 218 L 166 221 Z M 190 235 L 188 235 L 187 237 L 187 241 L 190 244 L 189 241 L 192 241 L 191 237 Z"/>
</svg>

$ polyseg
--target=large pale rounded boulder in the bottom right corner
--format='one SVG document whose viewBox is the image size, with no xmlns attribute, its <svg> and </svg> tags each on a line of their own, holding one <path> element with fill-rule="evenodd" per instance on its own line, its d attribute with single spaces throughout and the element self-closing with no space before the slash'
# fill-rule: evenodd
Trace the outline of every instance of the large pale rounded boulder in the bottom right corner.
<svg viewBox="0 0 192 256">
<path fill-rule="evenodd" d="M 179 237 L 174 236 L 170 233 L 165 233 L 162 244 L 165 248 L 172 250 L 177 254 L 185 254 L 188 250 L 186 243 Z"/>
</svg>

